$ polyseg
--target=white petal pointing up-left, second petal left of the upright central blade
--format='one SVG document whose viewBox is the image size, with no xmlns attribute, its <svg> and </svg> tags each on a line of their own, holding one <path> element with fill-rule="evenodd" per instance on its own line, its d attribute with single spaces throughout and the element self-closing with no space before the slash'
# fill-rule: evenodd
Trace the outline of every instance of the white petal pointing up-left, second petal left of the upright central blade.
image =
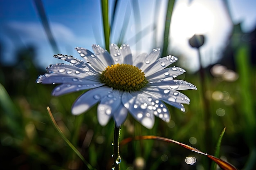
<svg viewBox="0 0 256 170">
<path fill-rule="evenodd" d="M 97 70 L 97 72 L 102 73 L 106 68 L 106 64 L 103 64 L 101 58 L 81 47 L 76 47 L 75 50 L 80 54 L 81 57 L 87 62 L 91 69 Z"/>
</svg>

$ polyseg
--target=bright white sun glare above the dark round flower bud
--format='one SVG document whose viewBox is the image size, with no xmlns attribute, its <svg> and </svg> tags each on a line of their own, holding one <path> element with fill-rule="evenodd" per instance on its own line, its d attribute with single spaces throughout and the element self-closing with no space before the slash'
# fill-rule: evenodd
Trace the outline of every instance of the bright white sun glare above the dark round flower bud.
<svg viewBox="0 0 256 170">
<path fill-rule="evenodd" d="M 173 11 L 171 20 L 171 35 L 173 38 L 190 38 L 194 34 L 211 31 L 213 14 L 207 7 L 199 3 L 180 3 Z"/>
</svg>

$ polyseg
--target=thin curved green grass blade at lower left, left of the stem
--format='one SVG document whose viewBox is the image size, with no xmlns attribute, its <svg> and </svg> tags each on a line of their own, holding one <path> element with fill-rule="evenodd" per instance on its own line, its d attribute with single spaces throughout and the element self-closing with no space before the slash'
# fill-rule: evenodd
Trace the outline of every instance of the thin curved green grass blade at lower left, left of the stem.
<svg viewBox="0 0 256 170">
<path fill-rule="evenodd" d="M 74 145 L 67 139 L 67 137 L 65 137 L 65 135 L 63 134 L 63 132 L 61 131 L 61 129 L 58 127 L 53 115 L 52 115 L 52 112 L 50 110 L 49 107 L 47 107 L 47 111 L 48 111 L 48 116 L 49 118 L 51 119 L 52 121 L 52 124 L 54 126 L 54 128 L 58 131 L 58 134 L 61 136 L 61 138 L 67 143 L 68 146 L 70 146 L 70 148 L 72 150 L 74 150 L 74 152 L 76 153 L 76 155 L 83 161 L 83 163 L 90 169 L 90 170 L 94 170 L 94 168 L 92 168 L 92 166 L 87 162 L 85 161 L 83 155 L 74 147 Z"/>
</svg>

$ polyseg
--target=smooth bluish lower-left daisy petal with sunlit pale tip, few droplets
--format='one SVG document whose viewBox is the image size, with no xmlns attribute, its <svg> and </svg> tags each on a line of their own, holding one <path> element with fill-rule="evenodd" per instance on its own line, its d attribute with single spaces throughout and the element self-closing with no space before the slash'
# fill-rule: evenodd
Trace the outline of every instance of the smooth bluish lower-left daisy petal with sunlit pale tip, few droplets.
<svg viewBox="0 0 256 170">
<path fill-rule="evenodd" d="M 81 95 L 72 106 L 72 114 L 79 115 L 87 111 L 94 104 L 99 102 L 103 97 L 108 95 L 108 92 L 112 91 L 112 88 L 103 86 L 99 88 L 94 88 L 83 95 Z"/>
</svg>

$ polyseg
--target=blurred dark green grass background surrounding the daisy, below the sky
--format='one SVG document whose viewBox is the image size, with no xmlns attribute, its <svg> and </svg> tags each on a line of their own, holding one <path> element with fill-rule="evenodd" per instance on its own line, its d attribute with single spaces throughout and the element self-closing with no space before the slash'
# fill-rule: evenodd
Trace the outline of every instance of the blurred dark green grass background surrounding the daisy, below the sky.
<svg viewBox="0 0 256 170">
<path fill-rule="evenodd" d="M 109 13 L 108 2 L 104 1 L 104 3 L 102 13 Z M 174 1 L 169 1 L 166 7 L 164 43 L 161 47 L 164 49 L 163 54 L 169 54 L 168 33 L 173 4 Z M 43 3 L 36 7 L 41 14 L 41 19 L 44 20 L 43 18 L 47 14 L 44 14 L 42 8 L 40 9 L 42 7 L 40 5 Z M 136 1 L 133 2 L 133 5 L 136 6 Z M 116 8 L 113 9 L 112 20 L 115 18 Z M 137 19 L 139 20 L 139 18 Z M 103 20 L 105 20 L 105 43 L 108 44 L 111 37 L 111 24 L 108 22 L 107 15 L 103 15 Z M 42 21 L 42 24 L 47 27 L 47 20 Z M 124 30 L 125 24 L 123 25 Z M 136 29 L 138 32 L 136 39 L 138 40 L 142 38 L 141 32 L 148 31 L 141 31 L 139 24 Z M 49 28 L 47 30 L 50 31 Z M 47 32 L 47 30 L 45 31 Z M 251 37 L 249 41 L 243 40 L 245 35 Z M 202 91 L 199 72 L 185 73 L 177 77 L 195 84 L 198 88 L 197 91 L 182 91 L 191 99 L 191 104 L 185 106 L 186 112 L 182 113 L 180 110 L 168 106 L 171 121 L 166 124 L 156 118 L 155 125 L 151 130 L 141 126 L 129 115 L 121 127 L 120 139 L 137 135 L 157 135 L 180 141 L 214 155 L 220 133 L 226 127 L 225 135 L 222 138 L 220 157 L 238 169 L 255 169 L 255 35 L 255 30 L 248 35 L 241 31 L 240 24 L 234 25 L 229 44 L 224 50 L 224 57 L 218 62 L 221 65 L 204 68 L 203 83 L 206 91 Z M 119 42 L 115 43 L 123 43 L 123 37 L 120 35 Z M 50 40 L 50 42 L 54 43 L 54 40 Z M 52 47 L 57 49 L 56 44 Z M 45 70 L 34 62 L 36 49 L 33 46 L 17 49 L 16 56 L 18 60 L 13 66 L 5 66 L 0 63 L 0 169 L 86 169 L 79 157 L 65 144 L 52 126 L 47 115 L 47 106 L 51 108 L 54 118 L 65 136 L 76 146 L 90 165 L 98 170 L 111 169 L 114 121 L 111 119 L 105 127 L 100 126 L 97 121 L 96 106 L 85 114 L 73 116 L 70 112 L 71 106 L 75 99 L 84 92 L 52 97 L 50 94 L 55 85 L 35 83 L 36 77 L 45 73 Z M 175 66 L 179 66 L 179 64 L 178 62 Z M 209 103 L 207 106 L 209 113 L 204 110 L 205 102 L 203 100 L 205 99 Z M 209 124 L 206 125 L 205 122 L 209 122 Z M 209 127 L 208 130 L 207 127 Z M 152 140 L 133 141 L 121 146 L 120 155 L 122 158 L 121 169 L 123 170 L 207 170 L 211 163 L 207 157 L 175 144 Z M 197 159 L 193 166 L 185 163 L 185 158 L 188 156 Z"/>
</svg>

